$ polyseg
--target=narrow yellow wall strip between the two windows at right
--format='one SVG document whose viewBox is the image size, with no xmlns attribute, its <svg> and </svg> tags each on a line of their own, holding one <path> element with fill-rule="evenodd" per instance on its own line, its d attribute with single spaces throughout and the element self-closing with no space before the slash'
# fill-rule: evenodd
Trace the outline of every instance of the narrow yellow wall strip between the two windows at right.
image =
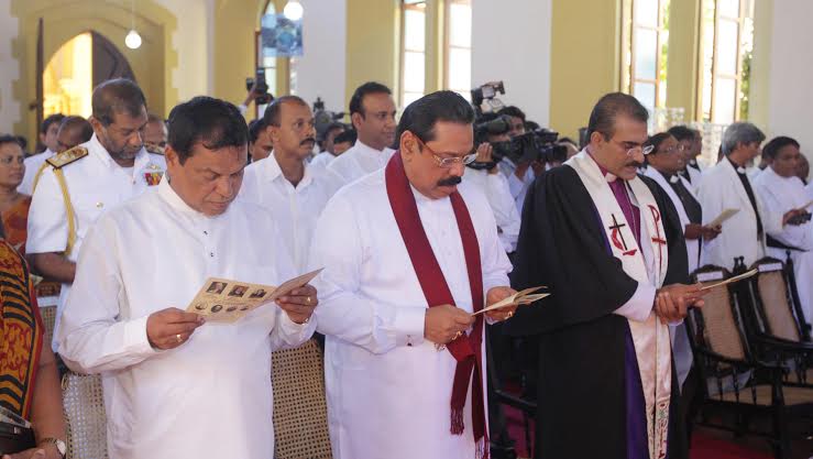
<svg viewBox="0 0 813 459">
<path fill-rule="evenodd" d="M 694 117 L 697 100 L 701 0 L 673 0 L 669 11 L 667 107 L 682 107 L 686 121 Z"/>
</svg>

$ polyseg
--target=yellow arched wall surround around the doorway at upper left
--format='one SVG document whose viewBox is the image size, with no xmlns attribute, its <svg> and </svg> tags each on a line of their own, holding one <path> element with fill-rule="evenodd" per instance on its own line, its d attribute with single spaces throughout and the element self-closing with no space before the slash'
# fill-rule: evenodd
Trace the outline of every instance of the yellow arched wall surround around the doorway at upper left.
<svg viewBox="0 0 813 459">
<path fill-rule="evenodd" d="M 12 54 L 20 62 L 20 78 L 13 81 L 14 98 L 20 101 L 20 119 L 13 132 L 36 139 L 36 112 L 29 103 L 36 99 L 36 24 L 44 22 L 44 62 L 74 36 L 94 30 L 105 35 L 127 57 L 152 111 L 164 113 L 177 100 L 171 84 L 171 72 L 177 66 L 177 54 L 169 37 L 177 28 L 176 18 L 150 0 L 139 1 L 135 28 L 143 43 L 139 50 L 122 45 L 131 26 L 131 12 L 117 3 L 98 0 L 12 0 L 11 14 L 19 18 L 20 31 L 12 42 Z"/>
</svg>

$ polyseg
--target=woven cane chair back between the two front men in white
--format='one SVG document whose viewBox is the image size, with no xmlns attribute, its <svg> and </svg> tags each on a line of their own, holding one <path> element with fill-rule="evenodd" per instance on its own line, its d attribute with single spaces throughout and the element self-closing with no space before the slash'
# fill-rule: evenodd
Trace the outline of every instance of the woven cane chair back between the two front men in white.
<svg viewBox="0 0 813 459">
<path fill-rule="evenodd" d="M 275 458 L 332 458 L 319 345 L 273 352 L 272 375 Z"/>
</svg>

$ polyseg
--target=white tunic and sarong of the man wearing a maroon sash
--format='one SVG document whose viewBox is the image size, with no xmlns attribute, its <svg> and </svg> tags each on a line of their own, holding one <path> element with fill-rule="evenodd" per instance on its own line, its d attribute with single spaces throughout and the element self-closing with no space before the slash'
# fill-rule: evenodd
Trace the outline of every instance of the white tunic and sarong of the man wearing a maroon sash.
<svg viewBox="0 0 813 459">
<path fill-rule="evenodd" d="M 333 457 L 472 459 L 477 453 L 472 390 L 466 391 L 462 412 L 464 431 L 453 435 L 450 395 L 457 362 L 449 351 L 438 351 L 424 340 L 428 302 L 386 182 L 381 170 L 339 190 L 319 218 L 320 236 L 311 250 L 311 267 L 325 266 L 315 285 L 320 294 L 319 331 L 327 337 L 325 380 Z M 432 200 L 415 188 L 406 189 L 405 195 L 414 195 L 454 304 L 472 312 L 472 284 L 451 199 Z M 483 292 L 507 285 L 510 263 L 488 203 L 474 187 L 461 184 L 458 190 L 476 234 Z"/>
</svg>

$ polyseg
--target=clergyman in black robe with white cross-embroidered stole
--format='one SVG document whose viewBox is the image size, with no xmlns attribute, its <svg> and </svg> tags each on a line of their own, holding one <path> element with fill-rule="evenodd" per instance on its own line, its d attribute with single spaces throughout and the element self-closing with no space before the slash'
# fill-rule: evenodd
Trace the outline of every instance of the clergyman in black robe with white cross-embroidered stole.
<svg viewBox="0 0 813 459">
<path fill-rule="evenodd" d="M 651 424 L 647 430 L 647 415 L 658 418 L 652 411 L 645 413 L 650 406 L 638 361 L 653 361 L 658 349 L 636 351 L 630 331 L 679 323 L 688 307 L 702 305 L 699 286 L 684 285 L 688 262 L 678 214 L 653 181 L 637 175 L 648 153 L 642 147 L 647 119 L 646 109 L 631 96 L 604 96 L 591 113 L 590 144 L 564 166 L 542 174 L 525 203 L 512 283 L 516 288 L 546 285 L 552 295 L 517 309 L 506 327 L 512 335 L 539 338 L 537 458 L 639 459 L 659 457 L 658 449 L 669 459 L 688 457 L 684 426 L 661 424 L 660 447 L 653 445 Z M 584 182 L 578 164 L 600 178 Z M 605 200 L 596 203 L 585 183 L 594 184 L 592 193 L 603 190 Z M 607 208 L 622 212 L 605 221 Z M 647 220 L 650 214 L 652 221 Z M 656 217 L 661 226 L 655 225 Z M 655 226 L 647 231 L 642 223 Z M 625 226 L 631 229 L 626 239 L 619 229 Z M 636 254 L 648 254 L 638 265 L 647 266 L 645 278 L 648 274 L 657 281 L 638 282 L 628 274 L 628 261 L 622 259 Z M 664 259 L 660 274 L 649 272 L 653 261 Z M 641 277 L 641 269 L 636 275 Z M 662 345 L 662 328 L 657 337 L 655 342 Z M 667 387 L 661 391 L 666 402 L 656 406 L 667 407 L 661 419 L 668 422 L 675 418 L 679 392 L 672 383 L 668 331 L 666 342 L 660 349 L 661 356 L 666 349 L 666 358 L 655 368 L 664 369 L 660 384 Z"/>
</svg>

